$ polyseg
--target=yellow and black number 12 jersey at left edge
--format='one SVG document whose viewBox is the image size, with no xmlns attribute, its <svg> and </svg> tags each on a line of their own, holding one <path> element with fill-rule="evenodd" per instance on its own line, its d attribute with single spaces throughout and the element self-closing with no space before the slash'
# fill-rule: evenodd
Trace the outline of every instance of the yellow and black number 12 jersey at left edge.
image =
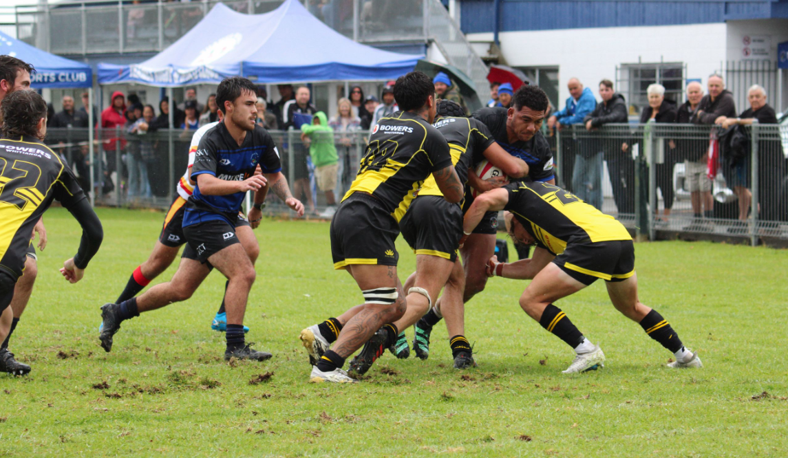
<svg viewBox="0 0 788 458">
<path fill-rule="evenodd" d="M 0 268 L 22 275 L 33 227 L 53 199 L 85 198 L 71 169 L 38 139 L 0 140 Z"/>
</svg>

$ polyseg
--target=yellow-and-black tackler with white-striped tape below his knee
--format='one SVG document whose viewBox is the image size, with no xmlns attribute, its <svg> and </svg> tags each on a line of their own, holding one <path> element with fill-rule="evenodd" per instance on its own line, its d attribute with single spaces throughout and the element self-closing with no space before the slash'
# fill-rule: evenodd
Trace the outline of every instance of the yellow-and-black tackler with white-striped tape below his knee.
<svg viewBox="0 0 788 458">
<path fill-rule="evenodd" d="M 446 200 L 463 199 L 446 139 L 431 124 L 436 110 L 432 79 L 422 72 L 400 76 L 394 98 L 401 111 L 373 128 L 359 174 L 331 222 L 334 268 L 348 270 L 364 304 L 301 331 L 315 364 L 313 382 L 353 382 L 342 370 L 348 356 L 364 345 L 359 357 L 374 360 L 396 341 L 391 323 L 406 308 L 396 275 L 397 223 L 430 173 Z"/>
</svg>

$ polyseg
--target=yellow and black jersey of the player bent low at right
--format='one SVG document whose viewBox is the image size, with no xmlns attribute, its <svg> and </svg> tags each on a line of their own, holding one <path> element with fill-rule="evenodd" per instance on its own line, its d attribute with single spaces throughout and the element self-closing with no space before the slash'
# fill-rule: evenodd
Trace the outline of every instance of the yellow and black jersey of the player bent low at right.
<svg viewBox="0 0 788 458">
<path fill-rule="evenodd" d="M 559 255 L 572 243 L 632 240 L 622 223 L 555 185 L 516 181 L 504 187 L 511 212 L 537 245 Z"/>
</svg>

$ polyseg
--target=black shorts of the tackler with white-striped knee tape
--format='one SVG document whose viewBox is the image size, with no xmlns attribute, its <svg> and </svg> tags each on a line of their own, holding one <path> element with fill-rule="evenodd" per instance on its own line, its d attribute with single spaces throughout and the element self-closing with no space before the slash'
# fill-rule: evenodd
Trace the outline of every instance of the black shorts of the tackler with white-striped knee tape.
<svg viewBox="0 0 788 458">
<path fill-rule="evenodd" d="M 380 201 L 355 192 L 336 209 L 331 220 L 331 257 L 334 268 L 351 264 L 396 266 L 400 259 L 394 242 L 400 235 L 396 220 Z"/>
</svg>

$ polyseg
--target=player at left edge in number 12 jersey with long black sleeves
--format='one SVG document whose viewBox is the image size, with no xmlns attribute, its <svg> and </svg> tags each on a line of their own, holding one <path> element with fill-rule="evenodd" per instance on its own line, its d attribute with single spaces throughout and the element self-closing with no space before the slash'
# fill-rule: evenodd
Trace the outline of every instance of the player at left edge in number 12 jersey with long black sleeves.
<svg viewBox="0 0 788 458">
<path fill-rule="evenodd" d="M 82 227 L 76 255 L 61 273 L 71 283 L 82 279 L 98 251 L 103 233 L 76 177 L 58 154 L 41 140 L 46 135 L 46 102 L 32 90 L 17 90 L 2 102 L 0 140 L 0 341 L 12 320 L 8 305 L 14 285 L 24 274 L 24 259 L 35 223 L 57 199 Z M 29 368 L 28 368 L 29 371 Z"/>
</svg>

